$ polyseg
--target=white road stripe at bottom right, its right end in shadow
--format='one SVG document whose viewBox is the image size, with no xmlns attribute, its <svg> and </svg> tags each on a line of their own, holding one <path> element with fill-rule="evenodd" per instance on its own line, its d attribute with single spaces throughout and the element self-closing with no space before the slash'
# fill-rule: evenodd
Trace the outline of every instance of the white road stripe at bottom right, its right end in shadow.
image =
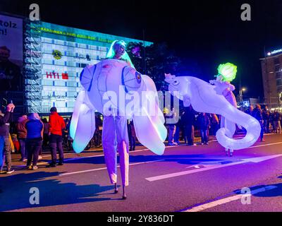
<svg viewBox="0 0 282 226">
<path fill-rule="evenodd" d="M 213 207 L 225 204 L 225 203 L 230 203 L 232 201 L 239 200 L 239 199 L 241 199 L 243 197 L 252 196 L 252 195 L 255 195 L 255 194 L 258 194 L 258 193 L 261 193 L 261 192 L 264 192 L 264 191 L 269 191 L 269 190 L 272 190 L 272 189 L 276 189 L 276 188 L 277 188 L 277 186 L 272 186 L 272 185 L 271 186 L 264 186 L 261 189 L 256 189 L 256 190 L 251 191 L 250 195 L 240 194 L 240 195 L 230 196 L 228 198 L 223 198 L 223 199 L 220 199 L 220 200 L 217 200 L 217 201 L 213 201 L 211 203 L 205 203 L 205 204 L 200 205 L 200 206 L 195 206 L 193 208 L 188 208 L 188 209 L 183 210 L 181 212 L 200 212 L 202 210 L 207 210 L 209 208 L 213 208 Z"/>
</svg>

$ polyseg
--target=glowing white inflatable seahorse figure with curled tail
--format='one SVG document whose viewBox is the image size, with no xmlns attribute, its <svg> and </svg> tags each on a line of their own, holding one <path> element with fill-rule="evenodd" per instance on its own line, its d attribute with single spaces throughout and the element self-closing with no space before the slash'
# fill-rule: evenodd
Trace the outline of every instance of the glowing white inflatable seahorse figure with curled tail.
<svg viewBox="0 0 282 226">
<path fill-rule="evenodd" d="M 223 93 L 230 89 L 230 83 L 212 81 L 216 85 L 209 84 L 199 78 L 190 76 L 172 76 L 166 74 L 166 82 L 169 83 L 168 90 L 183 100 L 185 107 L 192 105 L 197 112 L 221 114 L 225 118 L 226 126 L 216 132 L 217 141 L 226 149 L 239 150 L 253 145 L 260 135 L 260 124 L 257 119 L 245 114 L 226 100 Z M 230 93 L 229 93 L 230 94 Z M 243 126 L 247 134 L 242 139 L 233 139 L 235 124 Z M 231 129 L 230 129 L 231 128 Z M 235 129 L 234 129 L 235 131 Z"/>
</svg>

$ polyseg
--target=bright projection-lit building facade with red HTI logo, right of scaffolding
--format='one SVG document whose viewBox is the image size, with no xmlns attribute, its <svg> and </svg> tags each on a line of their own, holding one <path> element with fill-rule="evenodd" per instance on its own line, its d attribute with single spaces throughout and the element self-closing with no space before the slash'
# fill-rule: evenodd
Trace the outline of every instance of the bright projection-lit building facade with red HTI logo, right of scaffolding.
<svg viewBox="0 0 282 226">
<path fill-rule="evenodd" d="M 99 32 L 41 23 L 41 100 L 40 113 L 56 106 L 71 113 L 80 91 L 80 73 L 85 66 L 106 58 L 114 40 L 142 42 Z M 145 46 L 152 42 L 145 42 Z"/>
</svg>

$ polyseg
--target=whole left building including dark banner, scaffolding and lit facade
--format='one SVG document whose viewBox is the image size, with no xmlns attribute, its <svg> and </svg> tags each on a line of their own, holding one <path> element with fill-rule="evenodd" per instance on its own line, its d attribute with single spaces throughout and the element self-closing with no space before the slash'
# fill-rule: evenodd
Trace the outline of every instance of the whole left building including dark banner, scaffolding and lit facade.
<svg viewBox="0 0 282 226">
<path fill-rule="evenodd" d="M 4 12 L 0 20 L 0 103 L 13 101 L 19 114 L 48 114 L 55 106 L 70 115 L 82 69 L 105 59 L 114 40 L 153 44 Z"/>
</svg>

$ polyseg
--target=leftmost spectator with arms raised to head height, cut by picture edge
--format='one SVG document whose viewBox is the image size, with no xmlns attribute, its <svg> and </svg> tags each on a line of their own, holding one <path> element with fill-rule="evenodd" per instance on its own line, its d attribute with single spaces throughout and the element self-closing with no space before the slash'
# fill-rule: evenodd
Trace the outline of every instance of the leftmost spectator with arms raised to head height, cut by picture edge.
<svg viewBox="0 0 282 226">
<path fill-rule="evenodd" d="M 0 114 L 0 169 L 4 165 L 4 155 L 6 158 L 7 174 L 11 174 L 14 170 L 11 168 L 11 150 L 9 141 L 9 126 L 8 123 L 11 121 L 13 115 L 13 109 L 15 105 L 9 104 L 6 107 L 6 112 L 4 115 Z M 1 170 L 2 172 L 2 170 Z"/>
</svg>

